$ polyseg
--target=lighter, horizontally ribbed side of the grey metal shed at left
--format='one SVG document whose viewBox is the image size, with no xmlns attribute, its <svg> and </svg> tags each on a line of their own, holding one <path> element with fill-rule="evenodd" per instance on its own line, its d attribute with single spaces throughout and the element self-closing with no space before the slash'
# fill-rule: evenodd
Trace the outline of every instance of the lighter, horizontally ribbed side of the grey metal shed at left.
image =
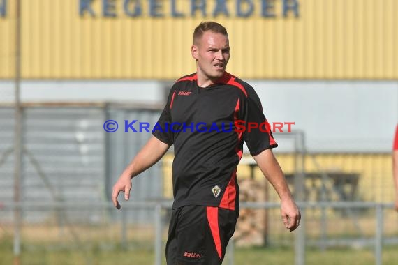
<svg viewBox="0 0 398 265">
<path fill-rule="evenodd" d="M 104 133 L 98 130 L 103 116 L 103 111 L 95 107 L 24 109 L 22 201 L 78 204 L 105 200 Z M 7 203 L 13 200 L 13 174 L 4 174 L 3 178 L 8 180 L 8 192 L 1 199 Z M 24 220 L 30 222 L 50 217 L 40 211 L 24 213 Z M 73 218 L 92 221 L 98 216 L 86 211 Z"/>
</svg>

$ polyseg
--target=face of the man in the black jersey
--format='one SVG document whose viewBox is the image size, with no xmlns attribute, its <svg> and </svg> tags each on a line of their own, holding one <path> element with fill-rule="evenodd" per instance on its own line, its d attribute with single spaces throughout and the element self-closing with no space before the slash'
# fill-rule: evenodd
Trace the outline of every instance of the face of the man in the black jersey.
<svg viewBox="0 0 398 265">
<path fill-rule="evenodd" d="M 198 63 L 198 74 L 214 81 L 223 76 L 230 59 L 228 36 L 206 31 L 193 43 L 191 52 Z"/>
</svg>

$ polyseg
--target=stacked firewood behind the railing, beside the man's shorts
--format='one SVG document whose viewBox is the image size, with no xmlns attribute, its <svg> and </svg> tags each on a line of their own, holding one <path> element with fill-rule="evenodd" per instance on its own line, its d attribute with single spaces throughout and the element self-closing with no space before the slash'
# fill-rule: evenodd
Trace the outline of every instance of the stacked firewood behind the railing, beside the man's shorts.
<svg viewBox="0 0 398 265">
<path fill-rule="evenodd" d="M 267 183 L 255 179 L 239 180 L 240 202 L 265 202 Z M 240 209 L 234 240 L 237 246 L 265 245 L 267 235 L 267 210 Z"/>
</svg>

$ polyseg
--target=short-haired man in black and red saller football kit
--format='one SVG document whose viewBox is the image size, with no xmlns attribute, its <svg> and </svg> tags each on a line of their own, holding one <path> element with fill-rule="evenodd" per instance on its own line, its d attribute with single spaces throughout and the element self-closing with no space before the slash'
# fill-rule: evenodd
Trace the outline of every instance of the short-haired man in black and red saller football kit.
<svg viewBox="0 0 398 265">
<path fill-rule="evenodd" d="M 200 23 L 193 33 L 191 54 L 197 72 L 172 86 L 154 136 L 121 174 L 112 193 L 119 209 L 119 192 L 128 199 L 131 179 L 174 144 L 169 265 L 221 264 L 239 216 L 236 169 L 244 142 L 281 198 L 286 229 L 293 231 L 300 222 L 300 211 L 271 150 L 277 143 L 270 130 L 254 128 L 261 123 L 265 127 L 260 100 L 249 84 L 226 72 L 230 58 L 226 29 L 215 22 Z M 253 128 L 243 130 L 249 123 Z"/>
</svg>

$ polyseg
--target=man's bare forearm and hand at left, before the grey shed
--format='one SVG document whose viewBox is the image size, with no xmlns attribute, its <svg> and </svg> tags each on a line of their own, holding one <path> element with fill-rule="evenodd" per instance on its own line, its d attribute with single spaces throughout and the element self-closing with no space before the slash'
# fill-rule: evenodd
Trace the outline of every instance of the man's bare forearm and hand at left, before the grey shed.
<svg viewBox="0 0 398 265">
<path fill-rule="evenodd" d="M 112 202 L 117 209 L 121 208 L 117 201 L 119 193 L 121 191 L 124 192 L 124 199 L 128 200 L 130 197 L 131 179 L 156 164 L 165 152 L 168 151 L 169 147 L 168 144 L 161 142 L 161 140 L 154 136 L 142 147 L 140 152 L 138 152 L 137 156 L 135 156 L 126 169 L 124 169 L 124 172 L 119 176 L 119 179 L 113 186 Z"/>
</svg>

